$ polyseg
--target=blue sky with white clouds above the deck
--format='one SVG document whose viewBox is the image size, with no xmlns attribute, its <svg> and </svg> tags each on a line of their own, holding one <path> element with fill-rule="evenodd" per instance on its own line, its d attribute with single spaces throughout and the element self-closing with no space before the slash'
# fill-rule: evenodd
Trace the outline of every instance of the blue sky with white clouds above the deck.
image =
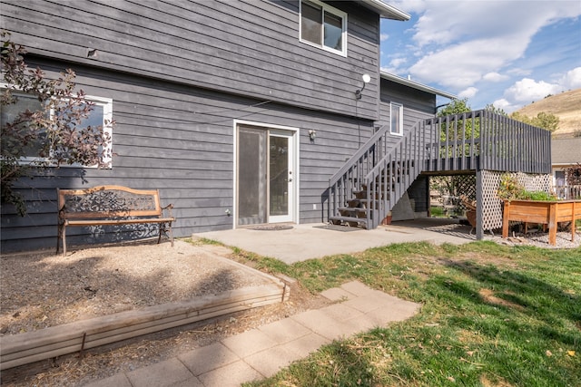
<svg viewBox="0 0 581 387">
<path fill-rule="evenodd" d="M 411 18 L 381 20 L 382 71 L 507 113 L 581 88 L 581 0 L 388 3 Z"/>
</svg>

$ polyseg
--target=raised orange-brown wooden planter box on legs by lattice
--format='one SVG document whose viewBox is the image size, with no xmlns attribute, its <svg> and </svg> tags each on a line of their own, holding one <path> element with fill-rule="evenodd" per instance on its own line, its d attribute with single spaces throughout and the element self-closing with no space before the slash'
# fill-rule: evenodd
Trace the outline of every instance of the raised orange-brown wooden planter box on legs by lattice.
<svg viewBox="0 0 581 387">
<path fill-rule="evenodd" d="M 508 237 L 511 220 L 548 225 L 548 243 L 556 245 L 556 225 L 571 222 L 571 241 L 575 240 L 575 220 L 581 218 L 581 200 L 505 200 L 502 237 Z"/>
</svg>

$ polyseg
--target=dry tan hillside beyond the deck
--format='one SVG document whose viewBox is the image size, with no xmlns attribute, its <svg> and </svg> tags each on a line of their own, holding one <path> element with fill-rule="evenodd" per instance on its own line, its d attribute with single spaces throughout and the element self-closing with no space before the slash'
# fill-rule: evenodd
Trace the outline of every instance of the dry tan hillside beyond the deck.
<svg viewBox="0 0 581 387">
<path fill-rule="evenodd" d="M 553 133 L 554 137 L 573 137 L 574 131 L 581 130 L 581 89 L 552 95 L 517 112 L 537 117 L 541 111 L 555 114 L 559 118 L 559 128 Z"/>
</svg>

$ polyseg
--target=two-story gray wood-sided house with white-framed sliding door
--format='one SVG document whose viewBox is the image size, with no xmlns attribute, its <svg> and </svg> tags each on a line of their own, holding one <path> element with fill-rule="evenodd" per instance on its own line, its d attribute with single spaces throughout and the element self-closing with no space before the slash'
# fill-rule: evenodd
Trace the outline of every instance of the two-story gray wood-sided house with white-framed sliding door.
<svg viewBox="0 0 581 387">
<path fill-rule="evenodd" d="M 160 189 L 162 204 L 174 206 L 176 237 L 279 222 L 376 227 L 406 193 L 423 212 L 430 173 L 520 170 L 529 157 L 505 165 L 507 150 L 488 148 L 500 133 L 486 124 L 497 118 L 435 119 L 436 95 L 451 95 L 380 73 L 380 19 L 409 19 L 382 0 L 0 6 L 27 63 L 50 76 L 73 69 L 98 107 L 92 118 L 116 122 L 110 169 L 51 169 L 22 181 L 28 214 L 2 206 L 5 251 L 54 246 L 56 188 Z M 469 120 L 482 131 L 460 140 Z M 542 136 L 527 138 L 545 146 Z M 526 161 L 526 172 L 547 173 Z M 356 192 L 365 203 L 341 214 Z M 75 228 L 72 244 L 151 234 Z"/>
</svg>

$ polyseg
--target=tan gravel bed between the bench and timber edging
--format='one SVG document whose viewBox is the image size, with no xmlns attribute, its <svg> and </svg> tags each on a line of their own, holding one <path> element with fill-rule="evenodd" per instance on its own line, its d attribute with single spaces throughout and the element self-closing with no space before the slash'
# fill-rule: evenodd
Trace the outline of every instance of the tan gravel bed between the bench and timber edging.
<svg viewBox="0 0 581 387">
<path fill-rule="evenodd" d="M 266 283 L 222 257 L 230 254 L 176 241 L 2 256 L 0 335 Z"/>
</svg>

